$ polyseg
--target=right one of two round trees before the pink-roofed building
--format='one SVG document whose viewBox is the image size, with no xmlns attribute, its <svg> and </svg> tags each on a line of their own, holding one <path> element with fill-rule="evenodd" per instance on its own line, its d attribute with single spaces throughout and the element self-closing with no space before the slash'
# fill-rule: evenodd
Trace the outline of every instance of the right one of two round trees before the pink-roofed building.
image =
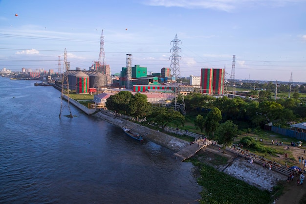
<svg viewBox="0 0 306 204">
<path fill-rule="evenodd" d="M 136 93 L 131 97 L 129 102 L 129 114 L 135 117 L 145 117 L 152 110 L 151 103 L 148 102 L 147 96 L 141 93 Z"/>
</svg>

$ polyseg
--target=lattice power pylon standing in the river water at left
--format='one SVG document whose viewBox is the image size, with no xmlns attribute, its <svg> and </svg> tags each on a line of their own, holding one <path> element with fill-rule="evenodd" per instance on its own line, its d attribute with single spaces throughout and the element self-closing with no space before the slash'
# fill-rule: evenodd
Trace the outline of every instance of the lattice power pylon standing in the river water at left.
<svg viewBox="0 0 306 204">
<path fill-rule="evenodd" d="M 59 114 L 59 117 L 61 118 L 61 115 L 64 111 L 64 108 L 66 108 L 69 111 L 68 117 L 72 118 L 73 115 L 70 110 L 70 104 L 69 104 L 69 81 L 68 81 L 68 70 L 70 69 L 70 63 L 67 62 L 67 51 L 65 48 L 64 51 L 64 73 L 63 73 L 63 78 L 62 78 L 62 91 L 61 91 L 61 111 Z M 63 103 L 63 97 L 65 97 L 64 92 L 66 93 L 66 99 L 67 99 L 67 104 Z"/>
</svg>

